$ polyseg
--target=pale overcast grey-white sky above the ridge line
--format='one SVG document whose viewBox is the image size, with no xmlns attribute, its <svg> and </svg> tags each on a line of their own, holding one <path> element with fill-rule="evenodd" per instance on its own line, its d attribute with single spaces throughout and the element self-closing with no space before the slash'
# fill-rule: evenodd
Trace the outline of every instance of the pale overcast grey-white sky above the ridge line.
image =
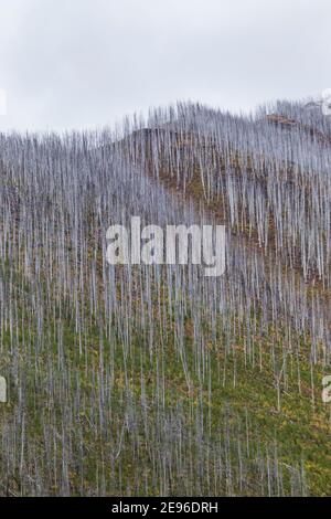
<svg viewBox="0 0 331 519">
<path fill-rule="evenodd" d="M 330 20 L 330 0 L 0 0 L 0 130 L 319 97 Z"/>
</svg>

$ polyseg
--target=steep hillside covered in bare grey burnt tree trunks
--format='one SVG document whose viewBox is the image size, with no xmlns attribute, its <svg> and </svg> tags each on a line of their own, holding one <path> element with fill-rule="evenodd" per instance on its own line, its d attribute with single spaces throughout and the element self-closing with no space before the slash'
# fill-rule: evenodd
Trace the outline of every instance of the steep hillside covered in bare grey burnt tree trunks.
<svg viewBox="0 0 331 519">
<path fill-rule="evenodd" d="M 0 136 L 0 494 L 331 492 L 331 123 L 277 103 Z M 226 271 L 106 231 L 225 224 Z"/>
</svg>

